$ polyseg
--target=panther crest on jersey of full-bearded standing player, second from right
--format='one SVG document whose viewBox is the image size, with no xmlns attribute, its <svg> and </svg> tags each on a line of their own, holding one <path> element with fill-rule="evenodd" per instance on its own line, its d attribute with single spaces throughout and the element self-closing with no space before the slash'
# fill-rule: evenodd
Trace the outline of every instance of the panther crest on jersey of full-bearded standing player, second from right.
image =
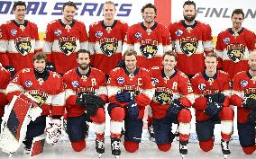
<svg viewBox="0 0 256 159">
<path fill-rule="evenodd" d="M 187 57 L 190 57 L 197 51 L 198 40 L 193 37 L 186 37 L 179 39 L 180 49 Z"/>
</svg>

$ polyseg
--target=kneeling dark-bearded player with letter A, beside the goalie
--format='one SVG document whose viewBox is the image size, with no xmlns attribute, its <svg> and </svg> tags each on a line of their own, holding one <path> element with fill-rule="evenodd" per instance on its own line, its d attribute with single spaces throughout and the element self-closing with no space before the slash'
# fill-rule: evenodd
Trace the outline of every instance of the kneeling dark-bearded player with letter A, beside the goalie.
<svg viewBox="0 0 256 159">
<path fill-rule="evenodd" d="M 77 55 L 78 67 L 63 76 L 68 112 L 67 132 L 71 146 L 80 152 L 87 146 L 87 121 L 92 121 L 96 131 L 96 152 L 101 156 L 105 152 L 105 75 L 89 66 L 88 50 L 80 49 Z"/>
</svg>

